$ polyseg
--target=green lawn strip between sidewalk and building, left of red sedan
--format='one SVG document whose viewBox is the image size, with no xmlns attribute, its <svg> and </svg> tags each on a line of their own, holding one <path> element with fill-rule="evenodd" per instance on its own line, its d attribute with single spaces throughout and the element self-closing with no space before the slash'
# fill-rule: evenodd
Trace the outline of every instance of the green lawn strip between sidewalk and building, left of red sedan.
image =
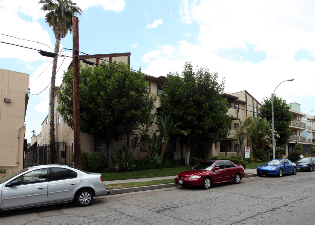
<svg viewBox="0 0 315 225">
<path fill-rule="evenodd" d="M 190 170 L 192 166 L 173 167 L 165 169 L 148 169 L 123 173 L 102 173 L 104 181 L 106 180 L 127 180 L 149 177 L 167 177 L 175 176 L 180 172 Z"/>
</svg>

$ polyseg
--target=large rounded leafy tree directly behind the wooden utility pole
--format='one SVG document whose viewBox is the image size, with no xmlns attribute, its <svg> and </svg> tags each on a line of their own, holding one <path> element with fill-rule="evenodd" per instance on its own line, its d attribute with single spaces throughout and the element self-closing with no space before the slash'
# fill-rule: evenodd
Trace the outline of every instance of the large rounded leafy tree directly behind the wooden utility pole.
<svg viewBox="0 0 315 225">
<path fill-rule="evenodd" d="M 129 71 L 121 62 L 81 68 L 81 131 L 108 141 L 133 135 L 156 100 L 156 96 L 146 93 L 148 83 L 143 78 L 143 74 Z M 57 110 L 73 128 L 71 69 L 64 74 L 63 81 Z"/>
</svg>

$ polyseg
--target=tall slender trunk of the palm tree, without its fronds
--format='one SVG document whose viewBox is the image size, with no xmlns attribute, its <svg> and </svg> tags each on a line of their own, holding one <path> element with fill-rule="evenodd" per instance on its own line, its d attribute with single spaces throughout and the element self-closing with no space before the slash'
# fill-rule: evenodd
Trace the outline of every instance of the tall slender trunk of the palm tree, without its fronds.
<svg viewBox="0 0 315 225">
<path fill-rule="evenodd" d="M 59 47 L 60 47 L 60 37 L 55 36 L 56 38 L 56 44 L 55 44 L 55 54 L 59 53 Z M 58 56 L 54 57 L 54 62 L 53 62 L 53 71 L 51 74 L 51 85 L 50 85 L 50 128 L 49 128 L 49 145 L 50 145 L 50 151 L 52 152 L 52 163 L 56 163 L 56 155 L 55 155 L 55 119 L 54 119 L 54 93 L 55 93 L 55 80 L 56 80 L 56 71 L 57 71 L 57 61 L 58 61 Z"/>
</svg>

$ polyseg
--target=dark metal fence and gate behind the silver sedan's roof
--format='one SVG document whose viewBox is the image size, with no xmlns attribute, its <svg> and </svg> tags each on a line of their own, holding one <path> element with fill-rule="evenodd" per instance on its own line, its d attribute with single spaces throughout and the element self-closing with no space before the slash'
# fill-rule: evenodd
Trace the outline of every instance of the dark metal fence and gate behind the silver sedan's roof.
<svg viewBox="0 0 315 225">
<path fill-rule="evenodd" d="M 54 151 L 49 145 L 31 145 L 24 151 L 23 168 L 46 164 L 72 166 L 72 152 L 73 145 L 67 146 L 66 142 L 55 142 Z"/>
</svg>

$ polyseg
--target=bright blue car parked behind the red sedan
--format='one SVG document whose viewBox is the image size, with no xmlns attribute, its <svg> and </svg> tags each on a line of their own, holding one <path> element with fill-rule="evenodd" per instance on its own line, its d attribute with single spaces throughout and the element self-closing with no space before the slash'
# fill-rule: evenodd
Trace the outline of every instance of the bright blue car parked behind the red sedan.
<svg viewBox="0 0 315 225">
<path fill-rule="evenodd" d="M 272 159 L 265 163 L 265 165 L 257 167 L 257 175 L 273 175 L 282 177 L 283 174 L 296 174 L 296 165 L 288 159 Z"/>
</svg>

